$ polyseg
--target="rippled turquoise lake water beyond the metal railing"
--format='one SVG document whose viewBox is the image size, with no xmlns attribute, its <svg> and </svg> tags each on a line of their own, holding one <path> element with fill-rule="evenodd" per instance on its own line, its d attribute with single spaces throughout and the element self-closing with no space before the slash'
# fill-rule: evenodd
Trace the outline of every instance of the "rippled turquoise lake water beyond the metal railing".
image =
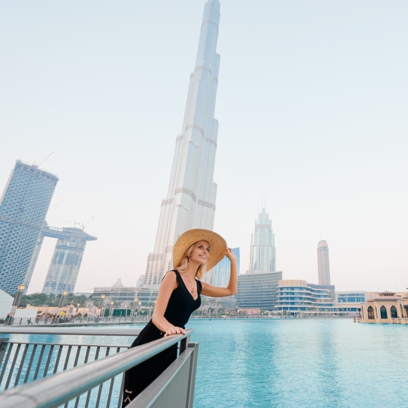
<svg viewBox="0 0 408 408">
<path fill-rule="evenodd" d="M 191 319 L 188 327 L 199 343 L 194 408 L 408 406 L 408 325 Z M 111 345 L 133 340 L 24 336 L 31 342 L 57 339 Z"/>
</svg>

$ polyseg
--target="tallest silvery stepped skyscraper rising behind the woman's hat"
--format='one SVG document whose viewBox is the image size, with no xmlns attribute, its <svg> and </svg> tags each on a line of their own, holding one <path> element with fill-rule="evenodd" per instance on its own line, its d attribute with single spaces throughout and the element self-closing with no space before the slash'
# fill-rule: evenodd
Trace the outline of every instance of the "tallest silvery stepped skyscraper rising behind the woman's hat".
<svg viewBox="0 0 408 408">
<path fill-rule="evenodd" d="M 218 122 L 214 119 L 220 57 L 216 54 L 220 3 L 208 0 L 198 52 L 177 136 L 167 196 L 161 204 L 155 249 L 147 259 L 145 284 L 158 285 L 172 268 L 174 242 L 190 228 L 212 230 L 217 185 L 213 182 Z"/>
</svg>

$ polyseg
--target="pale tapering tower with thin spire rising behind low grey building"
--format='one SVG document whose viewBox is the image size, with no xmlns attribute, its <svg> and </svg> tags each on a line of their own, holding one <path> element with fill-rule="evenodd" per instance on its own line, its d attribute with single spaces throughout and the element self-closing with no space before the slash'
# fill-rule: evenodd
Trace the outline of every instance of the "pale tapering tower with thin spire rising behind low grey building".
<svg viewBox="0 0 408 408">
<path fill-rule="evenodd" d="M 255 229 L 251 237 L 249 269 L 275 272 L 275 260 L 275 235 L 273 234 L 269 213 L 266 213 L 265 208 L 263 208 L 255 221 Z"/>
</svg>

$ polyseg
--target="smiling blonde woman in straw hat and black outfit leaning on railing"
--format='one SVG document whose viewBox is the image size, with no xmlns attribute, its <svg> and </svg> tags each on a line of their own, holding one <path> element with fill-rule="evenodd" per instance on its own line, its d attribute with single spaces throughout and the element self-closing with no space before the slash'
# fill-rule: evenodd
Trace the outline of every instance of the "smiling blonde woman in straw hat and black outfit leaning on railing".
<svg viewBox="0 0 408 408">
<path fill-rule="evenodd" d="M 198 279 L 226 256 L 231 261 L 230 282 L 219 288 Z M 151 320 L 131 347 L 178 334 L 185 334 L 191 313 L 200 307 L 200 295 L 221 297 L 237 293 L 237 260 L 225 240 L 209 230 L 183 233 L 173 249 L 174 270 L 164 276 Z M 123 404 L 126 406 L 154 381 L 177 357 L 177 344 L 126 371 Z"/>
</svg>

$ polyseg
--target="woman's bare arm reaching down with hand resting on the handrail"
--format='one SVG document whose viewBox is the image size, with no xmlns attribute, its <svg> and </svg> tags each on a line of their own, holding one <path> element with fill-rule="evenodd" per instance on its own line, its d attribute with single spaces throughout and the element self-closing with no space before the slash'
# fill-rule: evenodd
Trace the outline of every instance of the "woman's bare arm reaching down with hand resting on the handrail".
<svg viewBox="0 0 408 408">
<path fill-rule="evenodd" d="M 172 325 L 165 317 L 167 304 L 169 302 L 171 293 L 177 287 L 177 279 L 175 272 L 171 271 L 166 273 L 160 284 L 159 294 L 157 296 L 155 310 L 151 316 L 151 321 L 160 330 L 163 331 L 164 337 L 171 335 L 186 334 L 182 327 L 176 327 Z"/>
</svg>

